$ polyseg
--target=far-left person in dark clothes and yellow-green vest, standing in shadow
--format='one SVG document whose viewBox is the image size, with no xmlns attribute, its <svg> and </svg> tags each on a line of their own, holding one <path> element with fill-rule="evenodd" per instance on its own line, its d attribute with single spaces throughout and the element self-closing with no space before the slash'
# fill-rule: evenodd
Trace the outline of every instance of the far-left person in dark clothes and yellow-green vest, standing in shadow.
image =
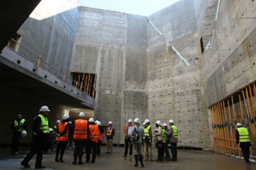
<svg viewBox="0 0 256 170">
<path fill-rule="evenodd" d="M 27 121 L 22 118 L 21 114 L 18 114 L 16 116 L 16 119 L 11 125 L 12 129 L 12 150 L 11 153 L 14 155 L 19 154 L 19 145 L 20 145 L 20 139 L 22 139 L 22 131 L 25 134 L 24 131 L 27 132 Z"/>
</svg>

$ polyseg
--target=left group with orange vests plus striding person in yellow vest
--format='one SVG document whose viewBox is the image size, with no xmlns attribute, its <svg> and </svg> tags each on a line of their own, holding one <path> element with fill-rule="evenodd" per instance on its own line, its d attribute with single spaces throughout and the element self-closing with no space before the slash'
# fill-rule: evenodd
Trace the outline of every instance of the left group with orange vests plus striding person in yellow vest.
<svg viewBox="0 0 256 170">
<path fill-rule="evenodd" d="M 42 165 L 43 151 L 51 143 L 51 133 L 48 123 L 49 107 L 44 105 L 40 108 L 40 113 L 34 118 L 32 124 L 33 130 L 33 140 L 32 149 L 25 156 L 23 161 L 20 163 L 24 168 L 30 168 L 28 162 L 36 155 L 35 169 L 46 168 Z M 59 121 L 56 125 L 56 156 L 55 161 L 64 163 L 64 152 L 67 147 L 67 143 L 70 139 L 70 134 L 72 134 L 72 140 L 74 141 L 74 161 L 72 164 L 83 164 L 82 156 L 86 153 L 86 162 L 95 163 L 96 155 L 100 156 L 100 145 L 103 139 L 103 128 L 101 127 L 100 121 L 95 121 L 95 119 L 85 119 L 85 113 L 80 112 L 79 118 L 75 119 L 74 125 L 70 128 L 71 124 L 69 120 L 70 116 L 64 114 L 62 116 L 62 121 Z M 23 121 L 22 121 L 23 122 Z M 19 126 L 21 127 L 21 126 Z M 23 126 L 22 126 L 23 127 Z M 51 130 L 52 131 L 52 130 Z M 107 140 L 107 151 L 106 153 L 113 152 L 113 136 L 114 128 L 112 127 L 112 122 L 109 121 L 109 125 L 106 128 L 106 140 Z M 92 154 L 92 160 L 90 156 Z M 77 160 L 78 159 L 78 160 Z"/>
</svg>

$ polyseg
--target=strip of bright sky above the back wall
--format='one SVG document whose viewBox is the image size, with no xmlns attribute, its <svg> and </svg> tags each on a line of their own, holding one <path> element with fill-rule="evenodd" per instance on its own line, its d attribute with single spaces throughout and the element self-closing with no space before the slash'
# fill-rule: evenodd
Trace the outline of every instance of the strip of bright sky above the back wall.
<svg viewBox="0 0 256 170">
<path fill-rule="evenodd" d="M 148 16 L 177 1 L 180 0 L 79 0 L 79 4 L 96 9 Z"/>
</svg>

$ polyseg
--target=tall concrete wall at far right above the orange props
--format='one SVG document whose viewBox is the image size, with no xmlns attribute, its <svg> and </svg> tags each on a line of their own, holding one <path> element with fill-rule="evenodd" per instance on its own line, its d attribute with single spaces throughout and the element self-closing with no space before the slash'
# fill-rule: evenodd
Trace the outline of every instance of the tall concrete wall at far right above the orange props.
<svg viewBox="0 0 256 170">
<path fill-rule="evenodd" d="M 203 53 L 207 107 L 256 80 L 255 16 L 255 1 L 221 1 L 213 47 Z"/>
</svg>

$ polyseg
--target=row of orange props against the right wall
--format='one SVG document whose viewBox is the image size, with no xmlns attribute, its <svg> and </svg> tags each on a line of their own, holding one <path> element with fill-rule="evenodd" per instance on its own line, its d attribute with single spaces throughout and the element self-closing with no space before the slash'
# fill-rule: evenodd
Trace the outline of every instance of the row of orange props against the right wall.
<svg viewBox="0 0 256 170">
<path fill-rule="evenodd" d="M 213 150 L 216 153 L 242 156 L 236 144 L 236 124 L 249 130 L 250 158 L 256 160 L 256 81 L 210 107 L 213 127 Z"/>
</svg>

